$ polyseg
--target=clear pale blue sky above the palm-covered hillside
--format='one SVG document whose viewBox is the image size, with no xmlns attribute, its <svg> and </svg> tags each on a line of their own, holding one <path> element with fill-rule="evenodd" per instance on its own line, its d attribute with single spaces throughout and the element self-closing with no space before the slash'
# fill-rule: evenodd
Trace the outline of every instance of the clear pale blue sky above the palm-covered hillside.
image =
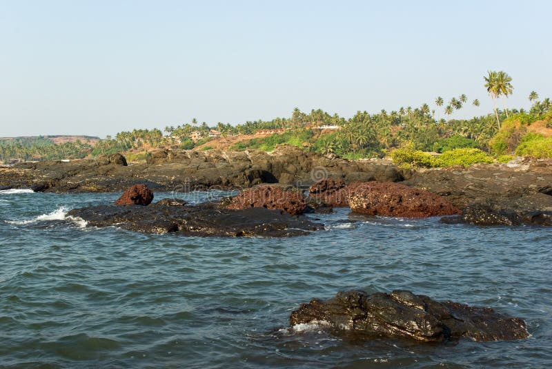
<svg viewBox="0 0 552 369">
<path fill-rule="evenodd" d="M 0 136 L 351 116 L 552 91 L 549 1 L 3 1 Z"/>
</svg>

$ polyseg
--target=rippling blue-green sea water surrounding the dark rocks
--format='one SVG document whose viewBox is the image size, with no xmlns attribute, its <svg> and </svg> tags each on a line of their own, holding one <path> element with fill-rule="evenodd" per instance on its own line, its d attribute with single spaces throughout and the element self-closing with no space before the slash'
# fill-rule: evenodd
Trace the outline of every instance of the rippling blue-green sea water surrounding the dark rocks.
<svg viewBox="0 0 552 369">
<path fill-rule="evenodd" d="M 0 191 L 1 368 L 552 365 L 552 229 L 339 209 L 308 215 L 326 231 L 297 238 L 186 238 L 90 229 L 66 217 L 116 198 Z M 299 304 L 356 288 L 491 306 L 526 319 L 531 337 L 420 344 L 288 326 Z"/>
</svg>

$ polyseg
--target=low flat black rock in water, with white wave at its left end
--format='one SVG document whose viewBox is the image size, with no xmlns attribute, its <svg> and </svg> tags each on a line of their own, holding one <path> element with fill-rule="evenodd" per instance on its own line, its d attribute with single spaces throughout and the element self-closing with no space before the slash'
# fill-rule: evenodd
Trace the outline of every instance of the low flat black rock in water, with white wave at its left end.
<svg viewBox="0 0 552 369">
<path fill-rule="evenodd" d="M 101 205 L 73 209 L 68 215 L 86 220 L 88 226 L 117 226 L 143 233 L 201 237 L 288 237 L 324 229 L 324 224 L 301 220 L 279 210 L 230 210 L 222 209 L 215 202 L 195 206 L 174 206 L 165 201 L 147 207 Z"/>
</svg>

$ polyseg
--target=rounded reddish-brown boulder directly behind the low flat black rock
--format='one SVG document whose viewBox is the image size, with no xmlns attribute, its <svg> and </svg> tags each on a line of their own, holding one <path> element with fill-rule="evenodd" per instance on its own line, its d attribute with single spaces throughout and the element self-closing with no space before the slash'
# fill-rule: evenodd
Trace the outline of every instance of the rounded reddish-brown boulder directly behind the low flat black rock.
<svg viewBox="0 0 552 369">
<path fill-rule="evenodd" d="M 306 200 L 299 191 L 289 191 L 275 186 L 260 186 L 239 193 L 231 200 L 227 209 L 252 207 L 279 209 L 291 215 L 299 215 L 306 209 Z"/>
</svg>

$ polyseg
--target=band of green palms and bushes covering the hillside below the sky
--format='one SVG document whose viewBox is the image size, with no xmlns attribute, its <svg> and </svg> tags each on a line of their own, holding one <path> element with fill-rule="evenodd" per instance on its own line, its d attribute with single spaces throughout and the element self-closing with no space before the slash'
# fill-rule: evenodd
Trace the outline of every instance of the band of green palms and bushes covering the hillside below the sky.
<svg viewBox="0 0 552 369">
<path fill-rule="evenodd" d="M 468 102 L 468 96 L 457 94 L 449 99 L 441 96 L 435 98 L 433 108 L 424 103 L 420 107 L 400 107 L 391 112 L 382 109 L 371 114 L 366 111 L 357 112 L 351 118 L 338 114 L 329 114 L 322 109 L 302 112 L 298 108 L 286 118 L 273 120 L 247 121 L 243 124 L 230 125 L 217 123 L 210 126 L 198 123 L 193 118 L 190 123 L 177 126 L 166 126 L 160 129 L 133 129 L 123 131 L 115 138 L 107 137 L 100 140 L 94 147 L 89 143 L 69 143 L 54 145 L 46 139 L 0 140 L 0 160 L 6 162 L 12 159 L 51 160 L 61 158 L 83 158 L 123 152 L 125 155 L 136 155 L 151 151 L 158 147 L 175 149 L 203 150 L 218 147 L 205 145 L 211 138 L 210 134 L 235 136 L 256 134 L 259 130 L 282 129 L 283 132 L 270 136 L 257 136 L 248 141 L 242 141 L 229 147 L 232 150 L 259 149 L 273 151 L 277 145 L 295 145 L 306 151 L 319 154 L 333 154 L 342 158 L 382 157 L 391 154 L 401 165 L 432 167 L 440 165 L 467 165 L 473 160 L 488 161 L 489 158 L 480 155 L 487 151 L 493 156 L 504 154 L 527 155 L 534 157 L 550 156 L 549 141 L 546 138 L 531 138 L 526 135 L 535 131 L 531 125 L 538 120 L 544 120 L 545 126 L 539 123 L 540 131 L 546 132 L 546 127 L 552 128 L 552 111 L 550 98 L 540 101 L 536 92 L 529 94 L 531 109 L 506 109 L 504 102 L 512 94 L 512 78 L 505 72 L 489 71 L 484 76 L 486 91 L 493 99 L 493 114 L 474 116 L 471 119 L 450 119 L 456 110 L 462 109 Z M 504 106 L 497 107 L 497 102 Z M 480 106 L 475 98 L 471 103 Z M 446 118 L 442 118 L 446 117 Z M 320 126 L 337 126 L 339 129 L 322 130 Z M 217 132 L 211 132 L 211 131 Z M 531 138 L 531 139 L 529 139 Z M 408 148 L 408 149 L 405 149 Z M 455 151 L 466 149 L 464 151 Z M 467 150 L 472 149 L 472 151 Z M 479 149 L 480 151 L 473 151 Z M 482 150 L 482 151 L 481 151 Z M 435 162 L 432 156 L 423 151 L 437 151 L 447 154 L 445 162 Z M 394 154 L 393 154 L 394 153 Z M 431 160 L 429 159 L 431 157 Z M 504 159 L 506 160 L 506 159 Z M 479 162 L 479 161 L 476 161 Z"/>
</svg>

